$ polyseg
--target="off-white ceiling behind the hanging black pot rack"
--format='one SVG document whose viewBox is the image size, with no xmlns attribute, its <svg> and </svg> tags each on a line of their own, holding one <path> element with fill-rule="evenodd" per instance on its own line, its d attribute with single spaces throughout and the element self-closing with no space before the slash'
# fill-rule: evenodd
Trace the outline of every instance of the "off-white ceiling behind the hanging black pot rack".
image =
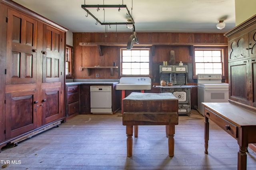
<svg viewBox="0 0 256 170">
<path fill-rule="evenodd" d="M 104 32 L 105 25 L 81 8 L 82 4 L 125 4 L 135 22 L 136 32 L 225 33 L 235 27 L 235 0 L 13 0 L 66 27 L 71 32 Z M 132 10 L 131 10 L 132 8 Z M 101 22 L 126 22 L 126 9 L 88 9 Z M 216 28 L 224 19 L 226 27 Z M 110 25 L 107 32 L 129 32 L 126 25 Z"/>
</svg>

